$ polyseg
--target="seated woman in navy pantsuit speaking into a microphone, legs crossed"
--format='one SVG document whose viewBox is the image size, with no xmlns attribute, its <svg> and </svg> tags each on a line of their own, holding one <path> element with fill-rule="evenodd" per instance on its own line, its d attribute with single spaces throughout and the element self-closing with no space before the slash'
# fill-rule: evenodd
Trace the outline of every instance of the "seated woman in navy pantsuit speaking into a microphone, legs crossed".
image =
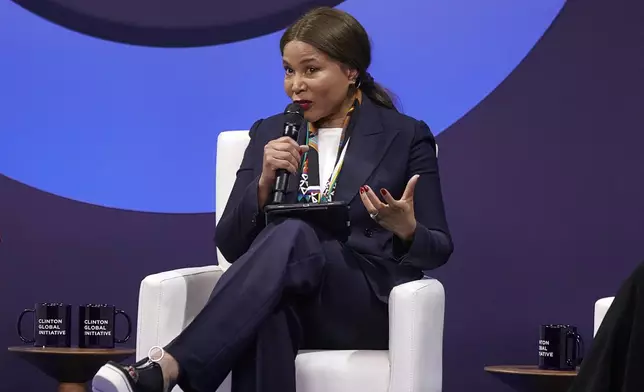
<svg viewBox="0 0 644 392">
<path fill-rule="evenodd" d="M 284 33 L 286 94 L 304 109 L 300 144 L 284 116 L 257 121 L 217 227 L 234 261 L 196 319 L 131 366 L 110 363 L 98 392 L 295 391 L 299 349 L 386 349 L 391 289 L 452 253 L 435 142 L 367 72 L 369 37 L 350 15 L 315 9 Z M 346 243 L 300 220 L 264 224 L 278 169 L 299 176 L 288 202 L 343 200 Z M 300 174 L 298 174 L 300 173 Z M 298 181 L 299 180 L 299 181 Z M 320 186 L 322 185 L 322 186 Z"/>
</svg>

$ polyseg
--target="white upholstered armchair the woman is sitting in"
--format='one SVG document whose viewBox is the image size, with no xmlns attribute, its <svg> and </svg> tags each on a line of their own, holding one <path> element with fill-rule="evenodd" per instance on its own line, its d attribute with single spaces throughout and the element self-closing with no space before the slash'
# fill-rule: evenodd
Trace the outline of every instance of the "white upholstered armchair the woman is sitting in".
<svg viewBox="0 0 644 392">
<path fill-rule="evenodd" d="M 227 131 L 217 141 L 216 219 L 230 195 L 248 144 L 247 131 Z M 147 276 L 139 292 L 137 359 L 177 336 L 201 311 L 229 266 L 184 268 Z M 395 287 L 389 301 L 389 350 L 301 351 L 298 392 L 439 392 L 442 389 L 445 292 L 432 278 Z M 178 387 L 173 392 L 181 391 Z M 218 392 L 230 391 L 230 375 Z"/>
</svg>

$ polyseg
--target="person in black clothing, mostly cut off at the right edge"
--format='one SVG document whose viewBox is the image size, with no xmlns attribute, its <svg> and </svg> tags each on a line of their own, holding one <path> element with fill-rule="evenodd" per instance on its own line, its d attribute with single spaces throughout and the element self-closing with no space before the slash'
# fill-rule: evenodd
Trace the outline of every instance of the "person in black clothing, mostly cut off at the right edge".
<svg viewBox="0 0 644 392">
<path fill-rule="evenodd" d="M 569 391 L 644 391 L 644 262 L 622 283 Z"/>
</svg>

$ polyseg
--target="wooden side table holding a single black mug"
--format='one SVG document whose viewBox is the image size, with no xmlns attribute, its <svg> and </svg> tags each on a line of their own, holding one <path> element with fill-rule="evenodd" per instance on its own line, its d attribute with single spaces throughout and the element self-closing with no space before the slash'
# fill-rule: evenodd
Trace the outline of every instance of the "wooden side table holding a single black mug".
<svg viewBox="0 0 644 392">
<path fill-rule="evenodd" d="M 542 370 L 538 366 L 486 366 L 484 370 L 521 392 L 566 392 L 578 370 Z"/>
</svg>

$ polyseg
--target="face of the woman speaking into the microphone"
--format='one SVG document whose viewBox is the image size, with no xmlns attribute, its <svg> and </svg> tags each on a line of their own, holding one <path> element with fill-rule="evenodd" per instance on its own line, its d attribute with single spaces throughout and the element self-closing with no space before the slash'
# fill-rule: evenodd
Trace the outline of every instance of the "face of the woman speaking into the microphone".
<svg viewBox="0 0 644 392">
<path fill-rule="evenodd" d="M 322 119 L 321 126 L 342 126 L 349 85 L 357 72 L 301 41 L 286 44 L 283 63 L 284 91 L 302 106 L 304 118 Z"/>
</svg>

